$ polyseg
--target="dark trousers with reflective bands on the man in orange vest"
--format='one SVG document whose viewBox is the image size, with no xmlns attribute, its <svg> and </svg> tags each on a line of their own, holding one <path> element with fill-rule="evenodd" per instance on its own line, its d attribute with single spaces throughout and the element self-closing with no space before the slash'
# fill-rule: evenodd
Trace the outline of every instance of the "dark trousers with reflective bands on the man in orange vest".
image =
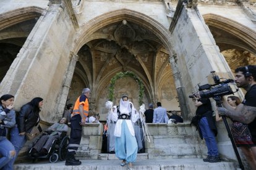
<svg viewBox="0 0 256 170">
<path fill-rule="evenodd" d="M 70 139 L 69 139 L 69 148 L 67 152 L 74 153 L 79 148 L 81 138 L 82 138 L 82 126 L 80 125 L 81 116 L 75 115 L 71 118 L 71 132 L 70 132 Z"/>
</svg>

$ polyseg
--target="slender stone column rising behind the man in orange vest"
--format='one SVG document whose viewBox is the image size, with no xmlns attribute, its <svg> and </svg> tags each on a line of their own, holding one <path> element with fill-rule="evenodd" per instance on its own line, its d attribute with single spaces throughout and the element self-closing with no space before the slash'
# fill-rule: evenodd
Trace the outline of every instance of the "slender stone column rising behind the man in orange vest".
<svg viewBox="0 0 256 170">
<path fill-rule="evenodd" d="M 64 83 L 62 85 L 61 95 L 59 97 L 59 104 L 58 104 L 58 117 L 59 118 L 61 118 L 62 113 L 65 108 L 65 105 L 66 105 L 67 95 L 69 94 L 70 84 L 72 81 L 72 77 L 74 75 L 75 64 L 79 60 L 79 56 L 74 54 L 73 52 L 70 52 L 69 57 L 71 58 L 71 60 L 70 60 L 69 66 L 67 68 L 67 73 L 64 78 Z"/>
</svg>

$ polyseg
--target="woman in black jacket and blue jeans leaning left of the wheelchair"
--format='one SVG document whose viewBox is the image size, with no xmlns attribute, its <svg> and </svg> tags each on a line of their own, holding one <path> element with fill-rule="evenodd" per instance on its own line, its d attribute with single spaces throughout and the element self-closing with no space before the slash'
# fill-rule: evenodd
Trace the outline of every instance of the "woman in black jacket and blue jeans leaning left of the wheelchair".
<svg viewBox="0 0 256 170">
<path fill-rule="evenodd" d="M 35 97 L 27 104 L 20 108 L 19 116 L 16 117 L 15 126 L 11 130 L 11 142 L 16 150 L 15 158 L 8 163 L 9 169 L 13 168 L 13 164 L 22 147 L 27 142 L 26 133 L 30 133 L 32 128 L 40 122 L 39 112 L 43 106 L 43 99 Z M 40 126 L 38 126 L 40 128 Z M 41 129 L 41 128 L 40 128 Z"/>
</svg>

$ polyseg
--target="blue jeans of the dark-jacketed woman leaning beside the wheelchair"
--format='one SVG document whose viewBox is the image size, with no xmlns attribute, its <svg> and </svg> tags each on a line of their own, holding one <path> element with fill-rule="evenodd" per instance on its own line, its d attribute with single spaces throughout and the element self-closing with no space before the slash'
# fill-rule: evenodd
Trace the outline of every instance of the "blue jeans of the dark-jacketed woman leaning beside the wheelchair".
<svg viewBox="0 0 256 170">
<path fill-rule="evenodd" d="M 25 143 L 27 142 L 27 139 L 25 137 L 25 135 L 19 135 L 19 129 L 17 127 L 17 124 L 15 124 L 14 127 L 12 127 L 11 129 L 11 143 L 12 145 L 14 145 L 15 151 L 16 151 L 16 155 L 15 157 L 9 161 L 9 163 L 6 164 L 6 168 L 7 169 L 13 169 L 14 166 L 14 161 L 16 160 L 20 150 L 22 149 L 22 147 L 25 145 Z"/>
</svg>

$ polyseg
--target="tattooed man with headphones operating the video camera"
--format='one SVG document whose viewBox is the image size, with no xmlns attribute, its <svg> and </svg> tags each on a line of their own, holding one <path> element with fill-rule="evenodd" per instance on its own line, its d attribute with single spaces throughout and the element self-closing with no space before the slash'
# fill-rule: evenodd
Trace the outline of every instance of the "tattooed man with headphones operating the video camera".
<svg viewBox="0 0 256 170">
<path fill-rule="evenodd" d="M 218 108 L 218 112 L 220 115 L 226 115 L 236 121 L 248 124 L 252 142 L 255 144 L 255 147 L 251 147 L 251 149 L 256 158 L 256 65 L 236 68 L 235 73 L 237 87 L 242 87 L 247 91 L 245 99 L 236 108 L 233 108 L 222 97 L 224 108 Z"/>
</svg>

